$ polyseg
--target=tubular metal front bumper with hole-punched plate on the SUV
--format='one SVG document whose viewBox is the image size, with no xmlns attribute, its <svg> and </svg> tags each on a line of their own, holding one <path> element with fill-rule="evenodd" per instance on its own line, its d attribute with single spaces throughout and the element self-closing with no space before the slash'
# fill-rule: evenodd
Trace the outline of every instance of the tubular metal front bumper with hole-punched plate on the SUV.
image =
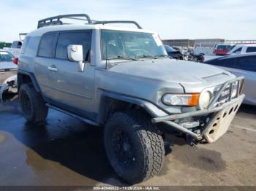
<svg viewBox="0 0 256 191">
<path fill-rule="evenodd" d="M 233 82 L 238 82 L 238 91 L 235 98 L 231 98 L 232 84 Z M 225 104 L 217 106 L 217 100 L 221 96 L 222 91 L 230 85 L 230 98 Z M 213 98 L 211 103 L 208 105 L 207 109 L 199 110 L 195 112 L 186 112 L 182 114 L 171 114 L 164 117 L 155 117 L 152 119 L 152 122 L 164 122 L 167 125 L 170 125 L 172 128 L 175 128 L 182 133 L 185 133 L 191 136 L 196 141 L 206 139 L 208 143 L 213 143 L 217 141 L 224 133 L 227 132 L 227 129 L 230 126 L 233 118 L 238 111 L 239 106 L 244 100 L 244 94 L 241 94 L 242 87 L 244 85 L 244 77 L 238 77 L 226 82 L 220 88 L 217 95 Z M 174 122 L 174 120 L 186 118 L 186 117 L 200 117 L 206 116 L 207 114 L 212 114 L 211 119 L 205 122 L 203 127 L 200 130 L 200 133 L 195 133 L 192 130 L 185 128 L 184 126 Z"/>
</svg>

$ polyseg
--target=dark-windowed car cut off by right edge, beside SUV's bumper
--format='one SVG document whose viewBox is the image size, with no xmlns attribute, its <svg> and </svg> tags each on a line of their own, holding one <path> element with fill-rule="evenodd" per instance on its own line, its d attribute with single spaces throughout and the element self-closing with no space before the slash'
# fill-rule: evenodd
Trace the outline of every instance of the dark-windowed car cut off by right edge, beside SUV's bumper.
<svg viewBox="0 0 256 191">
<path fill-rule="evenodd" d="M 245 77 L 244 104 L 256 106 L 256 52 L 241 55 L 227 55 L 205 63 L 230 71 L 237 77 Z"/>
</svg>

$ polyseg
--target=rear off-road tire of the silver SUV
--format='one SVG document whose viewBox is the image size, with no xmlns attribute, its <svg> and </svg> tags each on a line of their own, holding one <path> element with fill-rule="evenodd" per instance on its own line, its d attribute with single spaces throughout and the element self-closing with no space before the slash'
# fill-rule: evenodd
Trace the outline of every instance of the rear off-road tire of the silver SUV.
<svg viewBox="0 0 256 191">
<path fill-rule="evenodd" d="M 23 84 L 19 90 L 20 107 L 28 122 L 43 122 L 48 116 L 48 106 L 33 85 Z"/>
</svg>

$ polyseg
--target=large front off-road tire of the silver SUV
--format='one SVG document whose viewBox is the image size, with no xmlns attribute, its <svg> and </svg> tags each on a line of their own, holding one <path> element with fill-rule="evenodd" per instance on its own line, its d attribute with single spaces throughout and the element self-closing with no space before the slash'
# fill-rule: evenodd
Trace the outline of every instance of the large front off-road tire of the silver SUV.
<svg viewBox="0 0 256 191">
<path fill-rule="evenodd" d="M 120 129 L 126 133 L 125 137 L 129 137 L 132 143 L 130 147 L 132 162 L 128 160 L 128 164 L 129 162 L 132 164 L 128 167 L 118 159 L 119 155 L 115 151 L 121 148 L 119 144 L 115 144 L 116 139 L 114 139 L 114 135 L 117 134 L 115 132 Z M 143 112 L 127 111 L 112 114 L 105 125 L 104 139 L 110 164 L 116 174 L 126 182 L 131 184 L 143 182 L 161 171 L 165 160 L 164 141 L 157 133 L 157 127 L 151 122 L 150 117 Z"/>
</svg>

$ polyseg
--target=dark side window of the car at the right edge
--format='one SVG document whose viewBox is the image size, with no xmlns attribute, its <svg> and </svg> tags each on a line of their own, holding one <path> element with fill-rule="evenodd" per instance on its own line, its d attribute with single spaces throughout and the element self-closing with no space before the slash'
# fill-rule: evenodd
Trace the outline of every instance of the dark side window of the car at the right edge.
<svg viewBox="0 0 256 191">
<path fill-rule="evenodd" d="M 254 55 L 238 58 L 236 69 L 256 71 L 256 56 Z"/>
</svg>

